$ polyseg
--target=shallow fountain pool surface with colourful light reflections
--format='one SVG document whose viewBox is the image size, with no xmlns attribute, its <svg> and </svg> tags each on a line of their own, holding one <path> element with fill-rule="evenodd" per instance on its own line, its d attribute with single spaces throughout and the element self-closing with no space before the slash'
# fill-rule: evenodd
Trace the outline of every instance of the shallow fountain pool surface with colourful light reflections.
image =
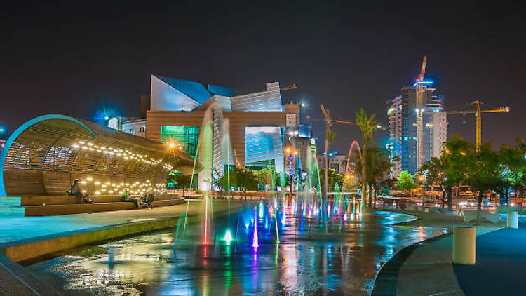
<svg viewBox="0 0 526 296">
<path fill-rule="evenodd" d="M 232 215 L 233 241 L 224 240 L 227 222 L 216 221 L 211 245 L 199 244 L 202 227 L 194 225 L 186 236 L 181 229 L 144 234 L 27 268 L 76 295 L 367 295 L 397 250 L 447 231 L 396 225 L 415 219 L 398 213 L 344 218 L 325 228 L 290 210 L 273 220 L 249 208 Z"/>
</svg>

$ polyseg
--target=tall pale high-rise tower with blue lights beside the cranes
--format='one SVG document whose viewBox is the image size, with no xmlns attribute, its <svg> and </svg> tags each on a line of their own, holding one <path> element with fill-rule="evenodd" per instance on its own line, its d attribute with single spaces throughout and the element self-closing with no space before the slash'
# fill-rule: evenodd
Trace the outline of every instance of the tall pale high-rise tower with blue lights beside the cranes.
<svg viewBox="0 0 526 296">
<path fill-rule="evenodd" d="M 430 86 L 427 82 L 417 82 L 412 87 L 404 86 L 401 95 L 387 101 L 389 144 L 386 148 L 393 159 L 395 176 L 402 170 L 416 173 L 418 163 L 440 156 L 447 140 L 444 98 L 438 95 L 436 88 Z M 422 90 L 424 108 L 421 110 L 417 109 L 417 89 Z M 418 112 L 422 112 L 422 149 L 417 149 Z"/>
</svg>

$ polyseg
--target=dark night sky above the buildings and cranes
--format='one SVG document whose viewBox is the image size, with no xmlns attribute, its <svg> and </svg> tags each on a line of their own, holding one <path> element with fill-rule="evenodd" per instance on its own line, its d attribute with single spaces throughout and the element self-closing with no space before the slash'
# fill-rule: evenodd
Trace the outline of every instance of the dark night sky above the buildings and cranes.
<svg viewBox="0 0 526 296">
<path fill-rule="evenodd" d="M 323 102 L 335 119 L 353 121 L 364 107 L 385 124 L 386 100 L 412 83 L 425 54 L 448 108 L 476 99 L 511 107 L 483 117 L 483 141 L 526 137 L 519 1 L 21 2 L 0 12 L 0 125 L 11 131 L 41 114 L 91 119 L 103 106 L 138 116 L 150 74 L 239 88 L 297 83 L 283 100 L 304 98 L 314 119 Z M 450 134 L 474 141 L 472 115 L 448 121 Z M 335 128 L 343 153 L 358 129 Z"/>
</svg>

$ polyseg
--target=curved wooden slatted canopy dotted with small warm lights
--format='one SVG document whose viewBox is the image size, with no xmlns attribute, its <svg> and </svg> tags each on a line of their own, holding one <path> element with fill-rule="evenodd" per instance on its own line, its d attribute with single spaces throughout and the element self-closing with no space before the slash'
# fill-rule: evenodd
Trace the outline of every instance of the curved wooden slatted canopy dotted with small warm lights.
<svg viewBox="0 0 526 296">
<path fill-rule="evenodd" d="M 187 154 L 160 142 L 44 115 L 15 130 L 1 151 L 0 196 L 63 195 L 75 179 L 90 194 L 163 193 L 171 169 L 191 173 L 193 166 Z"/>
</svg>

